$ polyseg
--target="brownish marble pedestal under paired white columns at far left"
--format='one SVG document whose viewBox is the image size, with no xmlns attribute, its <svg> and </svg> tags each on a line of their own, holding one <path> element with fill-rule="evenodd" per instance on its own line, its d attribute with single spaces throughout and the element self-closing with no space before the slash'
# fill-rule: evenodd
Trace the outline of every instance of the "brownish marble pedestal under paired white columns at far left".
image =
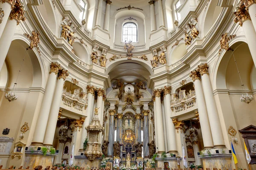
<svg viewBox="0 0 256 170">
<path fill-rule="evenodd" d="M 31 150 L 25 151 L 25 161 L 23 167 L 34 169 L 34 167 L 41 165 L 43 169 L 47 166 L 52 166 L 53 159 L 58 153 L 51 155 L 49 152 L 44 156 L 42 151 L 35 150 L 33 153 Z"/>
</svg>

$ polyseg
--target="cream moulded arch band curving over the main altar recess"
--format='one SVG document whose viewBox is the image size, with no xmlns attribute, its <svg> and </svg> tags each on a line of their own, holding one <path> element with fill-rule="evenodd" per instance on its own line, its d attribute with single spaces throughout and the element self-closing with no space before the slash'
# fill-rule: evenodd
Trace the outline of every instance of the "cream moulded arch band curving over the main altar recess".
<svg viewBox="0 0 256 170">
<path fill-rule="evenodd" d="M 119 64 L 121 64 L 121 63 L 126 63 L 126 62 L 127 62 L 127 58 L 120 58 L 120 59 L 117 59 L 117 60 L 115 60 L 115 61 L 109 62 L 109 63 L 107 64 L 107 66 L 106 66 L 106 72 L 105 72 L 105 74 L 108 74 L 109 72 L 111 72 L 111 70 L 112 70 L 115 66 L 117 66 L 117 65 L 119 65 Z M 132 60 L 129 60 L 129 62 L 130 62 L 130 63 L 137 63 L 137 64 L 140 64 L 140 65 L 144 66 L 145 69 L 148 70 L 148 72 L 150 73 L 150 75 L 153 75 L 153 74 L 154 74 L 154 72 L 153 72 L 153 70 L 152 70 L 151 64 L 148 63 L 148 62 L 146 62 L 146 61 L 144 61 L 144 60 L 141 60 L 141 59 L 139 59 L 139 58 L 133 58 Z"/>
</svg>

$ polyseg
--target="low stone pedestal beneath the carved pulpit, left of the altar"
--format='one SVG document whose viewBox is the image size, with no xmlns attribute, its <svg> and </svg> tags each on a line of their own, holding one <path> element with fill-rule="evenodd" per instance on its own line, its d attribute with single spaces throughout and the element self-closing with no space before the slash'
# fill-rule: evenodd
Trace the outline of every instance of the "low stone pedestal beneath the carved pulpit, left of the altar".
<svg viewBox="0 0 256 170">
<path fill-rule="evenodd" d="M 77 165 L 79 167 L 100 167 L 100 162 L 102 161 L 102 158 L 96 158 L 93 161 L 89 161 L 89 159 L 86 156 L 75 156 L 74 165 Z"/>
</svg>

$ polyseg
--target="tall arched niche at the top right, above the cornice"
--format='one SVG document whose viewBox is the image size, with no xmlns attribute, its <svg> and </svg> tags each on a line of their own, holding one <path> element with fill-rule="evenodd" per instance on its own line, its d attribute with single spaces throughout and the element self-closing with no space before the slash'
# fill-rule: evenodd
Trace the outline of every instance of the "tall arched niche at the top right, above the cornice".
<svg viewBox="0 0 256 170">
<path fill-rule="evenodd" d="M 204 13 L 202 22 L 204 36 L 208 34 L 223 9 L 223 7 L 217 6 L 217 3 L 218 0 L 211 0 L 207 6 L 207 11 Z"/>
</svg>

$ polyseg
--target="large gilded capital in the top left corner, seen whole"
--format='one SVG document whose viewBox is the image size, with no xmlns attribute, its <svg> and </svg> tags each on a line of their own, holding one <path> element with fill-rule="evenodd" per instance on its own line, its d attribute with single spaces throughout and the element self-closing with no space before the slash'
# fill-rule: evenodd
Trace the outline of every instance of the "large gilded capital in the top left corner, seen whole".
<svg viewBox="0 0 256 170">
<path fill-rule="evenodd" d="M 20 2 L 20 0 L 16 0 L 16 3 L 14 4 L 14 8 L 12 8 L 12 11 L 9 15 L 10 20 L 16 20 L 17 25 L 19 25 L 20 20 L 25 21 L 25 10 L 24 6 Z"/>
</svg>

